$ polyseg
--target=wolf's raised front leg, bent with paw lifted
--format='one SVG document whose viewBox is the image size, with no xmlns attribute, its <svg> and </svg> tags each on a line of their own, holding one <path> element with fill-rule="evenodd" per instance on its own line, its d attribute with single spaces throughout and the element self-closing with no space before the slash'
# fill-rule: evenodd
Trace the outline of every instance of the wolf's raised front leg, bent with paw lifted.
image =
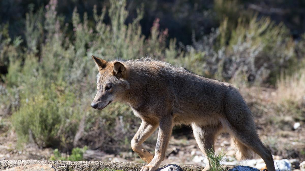
<svg viewBox="0 0 305 171">
<path fill-rule="evenodd" d="M 153 155 L 150 152 L 146 151 L 141 144 L 153 133 L 153 131 L 156 130 L 157 127 L 157 123 L 148 123 L 143 120 L 137 133 L 131 140 L 132 150 L 147 163 L 149 163 L 153 159 Z"/>
</svg>

